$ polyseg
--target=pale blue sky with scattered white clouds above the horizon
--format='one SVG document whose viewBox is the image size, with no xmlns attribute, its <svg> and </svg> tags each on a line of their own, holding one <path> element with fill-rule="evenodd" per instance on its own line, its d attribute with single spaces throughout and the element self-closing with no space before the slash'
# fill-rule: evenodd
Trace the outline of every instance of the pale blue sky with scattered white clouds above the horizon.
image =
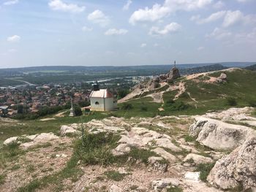
<svg viewBox="0 0 256 192">
<path fill-rule="evenodd" d="M 0 68 L 256 61 L 256 0 L 0 0 Z"/>
</svg>

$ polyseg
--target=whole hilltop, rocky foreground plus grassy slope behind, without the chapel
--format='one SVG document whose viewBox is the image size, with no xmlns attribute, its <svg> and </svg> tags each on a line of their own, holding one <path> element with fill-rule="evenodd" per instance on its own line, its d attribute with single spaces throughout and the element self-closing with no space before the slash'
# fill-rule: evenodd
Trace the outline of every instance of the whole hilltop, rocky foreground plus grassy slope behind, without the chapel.
<svg viewBox="0 0 256 192">
<path fill-rule="evenodd" d="M 0 191 L 255 191 L 255 78 L 192 74 L 143 82 L 115 112 L 0 118 Z"/>
</svg>

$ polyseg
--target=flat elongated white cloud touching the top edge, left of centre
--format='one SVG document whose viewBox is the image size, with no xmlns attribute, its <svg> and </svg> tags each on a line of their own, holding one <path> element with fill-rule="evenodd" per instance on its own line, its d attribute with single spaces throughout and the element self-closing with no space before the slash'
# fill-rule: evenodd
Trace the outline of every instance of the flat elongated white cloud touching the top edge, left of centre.
<svg viewBox="0 0 256 192">
<path fill-rule="evenodd" d="M 78 4 L 66 4 L 61 0 L 51 0 L 48 3 L 50 9 L 53 9 L 55 11 L 64 11 L 64 12 L 83 12 L 86 7 L 84 6 L 78 6 Z"/>
</svg>

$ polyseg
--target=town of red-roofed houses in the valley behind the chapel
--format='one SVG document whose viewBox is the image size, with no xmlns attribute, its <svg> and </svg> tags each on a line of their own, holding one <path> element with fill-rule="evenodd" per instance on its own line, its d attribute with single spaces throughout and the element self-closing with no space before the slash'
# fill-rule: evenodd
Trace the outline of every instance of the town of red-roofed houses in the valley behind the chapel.
<svg viewBox="0 0 256 192">
<path fill-rule="evenodd" d="M 118 98 L 118 96 L 124 97 L 129 88 L 136 83 L 150 78 L 153 77 L 120 77 L 98 82 L 101 88 L 108 88 L 113 96 Z M 89 96 L 93 83 L 94 81 L 75 81 L 0 87 L 0 116 L 34 119 L 69 109 L 71 99 L 75 105 L 87 107 L 90 105 Z"/>
</svg>

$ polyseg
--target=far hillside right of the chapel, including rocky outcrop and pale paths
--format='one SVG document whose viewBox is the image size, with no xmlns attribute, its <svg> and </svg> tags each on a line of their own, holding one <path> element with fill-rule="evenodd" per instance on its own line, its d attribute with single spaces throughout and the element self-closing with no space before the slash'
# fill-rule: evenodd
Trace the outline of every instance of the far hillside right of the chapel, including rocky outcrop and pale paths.
<svg viewBox="0 0 256 192">
<path fill-rule="evenodd" d="M 226 80 L 219 79 L 222 73 L 227 75 Z M 254 106 L 255 78 L 255 72 L 245 69 L 192 74 L 171 84 L 163 82 L 160 88 L 154 90 L 135 87 L 132 93 L 118 102 L 120 105 L 124 102 L 132 104 L 136 109 L 141 107 L 138 103 L 143 102 L 145 107 L 154 107 L 158 115 L 194 115 L 230 106 Z M 129 115 L 129 110 L 124 113 Z"/>
</svg>

